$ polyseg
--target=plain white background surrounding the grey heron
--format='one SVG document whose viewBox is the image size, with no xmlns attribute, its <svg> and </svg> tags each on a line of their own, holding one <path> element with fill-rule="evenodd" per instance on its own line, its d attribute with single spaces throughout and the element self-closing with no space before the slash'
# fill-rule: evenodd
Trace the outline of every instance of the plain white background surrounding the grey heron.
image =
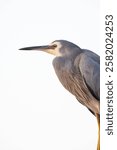
<svg viewBox="0 0 117 150">
<path fill-rule="evenodd" d="M 18 51 L 56 39 L 99 54 L 98 0 L 0 1 L 0 150 L 96 149 L 96 118 L 59 83 L 54 57 Z"/>
</svg>

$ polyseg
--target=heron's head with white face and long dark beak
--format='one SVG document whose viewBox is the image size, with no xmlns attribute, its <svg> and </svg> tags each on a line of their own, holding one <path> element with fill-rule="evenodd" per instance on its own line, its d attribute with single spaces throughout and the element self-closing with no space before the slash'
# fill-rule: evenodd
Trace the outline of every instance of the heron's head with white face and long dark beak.
<svg viewBox="0 0 117 150">
<path fill-rule="evenodd" d="M 72 53 L 74 54 L 75 51 L 80 51 L 81 49 L 71 42 L 65 40 L 56 40 L 49 45 L 24 47 L 19 50 L 37 50 L 50 53 L 54 56 L 68 56 L 72 55 Z"/>
</svg>

